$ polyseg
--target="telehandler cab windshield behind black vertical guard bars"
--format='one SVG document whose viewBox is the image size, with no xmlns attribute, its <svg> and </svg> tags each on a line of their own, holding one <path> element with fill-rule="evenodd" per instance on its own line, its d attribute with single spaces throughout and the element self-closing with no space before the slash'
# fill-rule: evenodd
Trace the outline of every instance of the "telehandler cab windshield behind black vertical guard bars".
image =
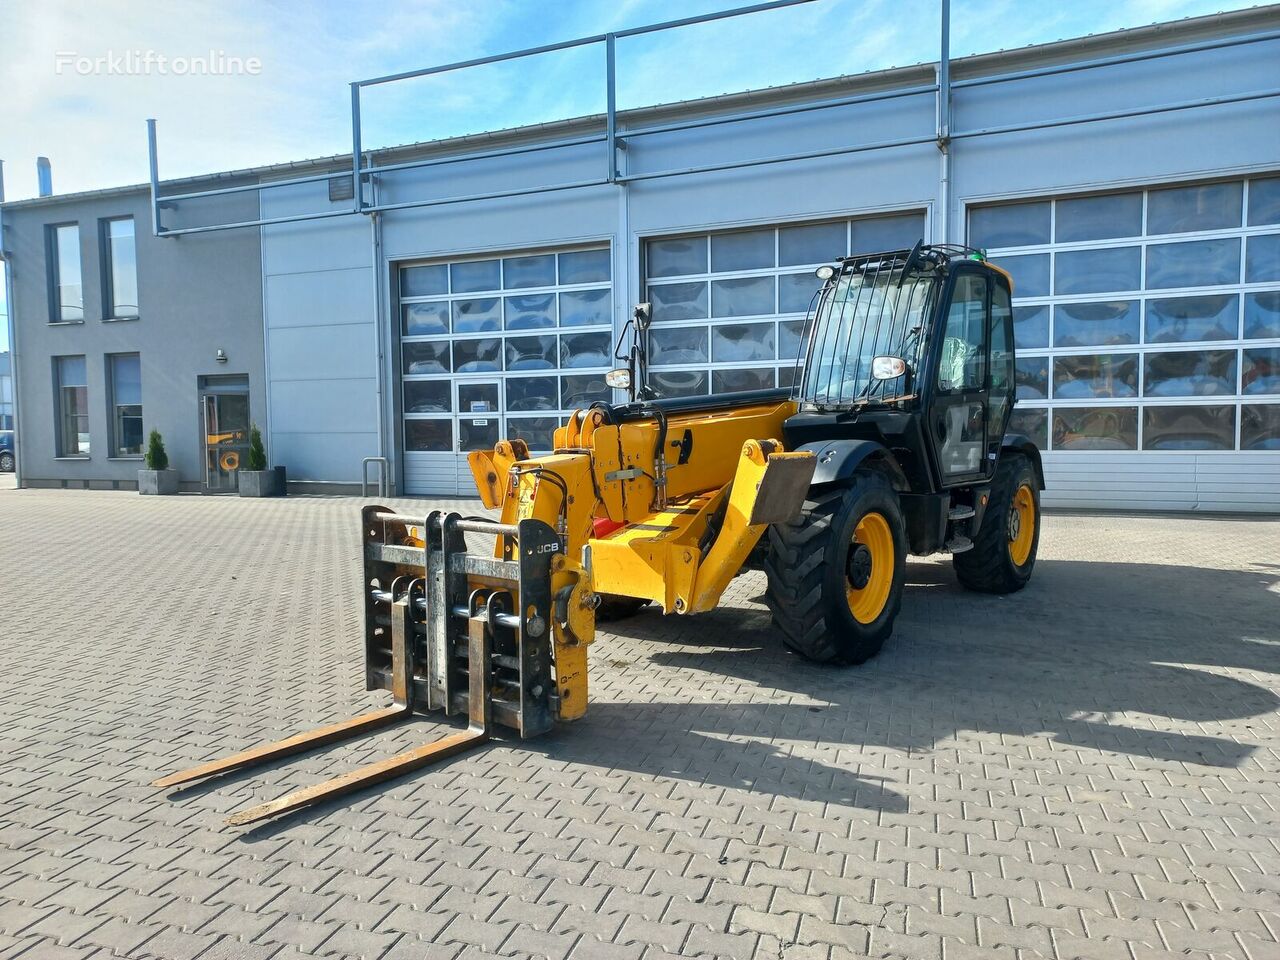
<svg viewBox="0 0 1280 960">
<path fill-rule="evenodd" d="M 919 370 L 924 316 L 936 284 L 932 271 L 913 271 L 899 285 L 901 276 L 901 269 L 868 264 L 828 284 L 806 344 L 801 401 L 837 406 L 906 393 L 910 372 Z M 878 356 L 901 357 L 908 374 L 872 379 L 872 358 Z"/>
</svg>

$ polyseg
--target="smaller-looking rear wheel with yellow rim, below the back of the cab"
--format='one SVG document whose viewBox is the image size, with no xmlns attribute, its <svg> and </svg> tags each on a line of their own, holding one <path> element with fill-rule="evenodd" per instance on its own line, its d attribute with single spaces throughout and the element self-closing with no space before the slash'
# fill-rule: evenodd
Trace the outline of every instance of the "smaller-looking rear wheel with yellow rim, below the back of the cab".
<svg viewBox="0 0 1280 960">
<path fill-rule="evenodd" d="M 1030 550 L 1019 563 L 1015 554 L 1015 532 L 1021 530 L 1023 511 L 1014 518 L 1014 498 L 1025 488 L 1032 502 Z M 1021 493 L 1023 497 L 1027 493 Z M 982 515 L 982 526 L 973 538 L 973 549 L 951 558 L 956 579 L 970 590 L 984 594 L 1011 594 L 1027 586 L 1036 567 L 1039 549 L 1039 481 L 1036 468 L 1021 453 L 1002 453 L 991 484 L 991 499 Z"/>
</svg>

